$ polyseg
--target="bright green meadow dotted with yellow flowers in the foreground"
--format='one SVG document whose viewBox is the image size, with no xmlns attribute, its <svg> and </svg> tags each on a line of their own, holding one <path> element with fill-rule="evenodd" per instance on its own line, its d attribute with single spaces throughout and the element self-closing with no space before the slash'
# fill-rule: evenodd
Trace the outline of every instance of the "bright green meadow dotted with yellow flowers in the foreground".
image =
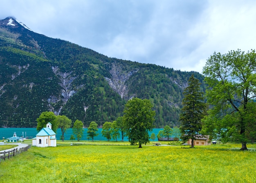
<svg viewBox="0 0 256 183">
<path fill-rule="evenodd" d="M 138 148 L 57 143 L 55 148 L 32 147 L 1 161 L 0 182 L 254 183 L 256 180 L 255 144 L 248 144 L 249 151 L 240 151 L 240 144 Z"/>
</svg>

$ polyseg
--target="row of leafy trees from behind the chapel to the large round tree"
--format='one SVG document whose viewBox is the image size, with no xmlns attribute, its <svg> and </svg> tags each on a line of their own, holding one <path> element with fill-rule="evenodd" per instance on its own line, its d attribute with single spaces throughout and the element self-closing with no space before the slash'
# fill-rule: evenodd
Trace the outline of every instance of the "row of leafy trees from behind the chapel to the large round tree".
<svg viewBox="0 0 256 183">
<path fill-rule="evenodd" d="M 118 117 L 116 121 L 106 121 L 102 126 L 102 135 L 106 137 L 108 141 L 113 137 L 117 140 L 120 137 L 120 131 L 122 141 L 124 135 L 128 136 L 131 145 L 139 143 L 139 148 L 142 144 L 146 144 L 149 141 L 148 132 L 153 130 L 155 121 L 155 111 L 152 110 L 153 105 L 148 99 L 132 98 L 125 105 L 124 117 Z M 52 130 L 56 133 L 57 128 L 61 128 L 61 139 L 64 141 L 64 133 L 67 128 L 71 127 L 72 121 L 66 116 L 55 116 L 53 112 L 42 112 L 37 119 L 37 131 L 40 131 L 46 126 L 48 122 L 52 123 Z M 98 124 L 92 121 L 88 126 L 88 137 L 93 138 L 98 135 Z M 169 127 L 170 128 L 170 127 Z M 79 141 L 83 137 L 83 123 L 76 120 L 72 128 L 73 134 Z M 71 136 L 71 140 L 74 139 L 74 135 Z"/>
</svg>

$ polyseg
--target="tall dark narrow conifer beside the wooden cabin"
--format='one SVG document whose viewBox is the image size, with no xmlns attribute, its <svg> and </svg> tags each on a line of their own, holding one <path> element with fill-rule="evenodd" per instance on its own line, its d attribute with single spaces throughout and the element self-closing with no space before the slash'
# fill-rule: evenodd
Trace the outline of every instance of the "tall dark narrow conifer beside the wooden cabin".
<svg viewBox="0 0 256 183">
<path fill-rule="evenodd" d="M 200 82 L 192 75 L 189 78 L 189 86 L 184 89 L 184 99 L 182 100 L 183 108 L 180 114 L 180 132 L 181 139 L 192 140 L 191 148 L 194 147 L 194 140 L 202 130 L 201 119 L 205 115 L 206 104 L 204 97 L 200 92 Z"/>
</svg>

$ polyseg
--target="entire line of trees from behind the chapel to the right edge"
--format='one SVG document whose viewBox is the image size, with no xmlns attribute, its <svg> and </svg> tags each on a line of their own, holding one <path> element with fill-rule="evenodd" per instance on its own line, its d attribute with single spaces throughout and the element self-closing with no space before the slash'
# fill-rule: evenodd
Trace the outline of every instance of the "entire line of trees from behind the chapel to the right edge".
<svg viewBox="0 0 256 183">
<path fill-rule="evenodd" d="M 180 138 L 186 142 L 198 136 L 207 136 L 209 140 L 242 143 L 241 150 L 247 150 L 246 143 L 254 142 L 256 137 L 256 53 L 254 50 L 229 51 L 225 54 L 213 53 L 203 68 L 206 93 L 202 93 L 200 82 L 192 75 L 188 87 L 184 89 L 182 112 L 180 114 Z M 124 116 L 116 121 L 106 122 L 102 135 L 108 140 L 128 136 L 129 142 L 142 144 L 149 142 L 148 132 L 153 130 L 155 111 L 149 99 L 132 98 L 124 108 Z M 62 140 L 72 121 L 65 116 L 55 116 L 53 112 L 43 112 L 37 119 L 37 130 L 52 123 L 56 132 L 61 128 Z M 88 126 L 88 137 L 97 136 L 98 124 L 94 121 Z M 171 137 L 172 129 L 165 126 L 157 137 Z M 76 120 L 73 134 L 79 141 L 83 135 L 83 123 Z M 151 135 L 154 139 L 155 134 Z M 74 136 L 72 136 L 74 138 Z"/>
</svg>

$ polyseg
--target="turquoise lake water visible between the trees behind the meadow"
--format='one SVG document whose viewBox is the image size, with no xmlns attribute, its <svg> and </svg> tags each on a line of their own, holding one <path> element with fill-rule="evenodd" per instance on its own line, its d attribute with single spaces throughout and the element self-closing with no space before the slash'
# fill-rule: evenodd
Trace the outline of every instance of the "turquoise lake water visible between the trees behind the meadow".
<svg viewBox="0 0 256 183">
<path fill-rule="evenodd" d="M 97 137 L 94 137 L 94 140 L 96 141 L 106 141 L 107 139 L 105 137 L 102 137 L 101 135 L 101 128 L 99 128 L 98 133 L 99 135 Z M 152 132 L 149 132 L 149 136 L 152 133 L 155 133 L 155 135 L 158 134 L 159 130 L 163 130 L 163 128 L 154 128 Z M 2 140 L 2 137 L 5 139 L 9 137 L 13 137 L 13 133 L 16 132 L 18 137 L 27 137 L 29 139 L 32 139 L 36 137 L 37 131 L 36 128 L 0 128 L 0 140 Z M 70 136 L 72 135 L 72 128 L 69 128 L 65 133 L 64 133 L 64 140 L 70 140 Z M 61 129 L 58 128 L 57 134 L 56 134 L 57 140 L 61 139 Z M 84 128 L 83 132 L 83 137 L 81 140 L 88 140 L 87 139 L 87 128 Z M 92 139 L 89 139 L 91 141 Z M 116 139 L 111 139 L 110 141 L 115 141 Z M 121 134 L 120 138 L 117 139 L 117 141 L 121 141 Z M 157 139 L 155 139 L 157 140 Z M 128 141 L 127 137 L 124 137 L 124 141 Z"/>
</svg>

